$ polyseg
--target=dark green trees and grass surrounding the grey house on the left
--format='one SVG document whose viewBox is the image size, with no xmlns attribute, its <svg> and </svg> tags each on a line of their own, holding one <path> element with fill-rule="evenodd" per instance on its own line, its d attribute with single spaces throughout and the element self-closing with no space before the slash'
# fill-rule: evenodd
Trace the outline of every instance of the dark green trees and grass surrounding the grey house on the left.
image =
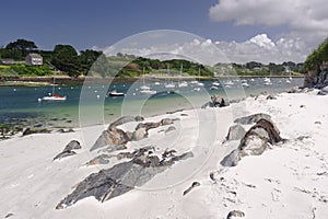
<svg viewBox="0 0 328 219">
<path fill-rule="evenodd" d="M 36 53 L 43 56 L 44 65 L 42 67 L 25 66 L 15 62 L 7 70 L 13 70 L 21 76 L 37 74 L 43 76 L 45 72 L 59 70 L 70 77 L 86 74 L 93 62 L 103 54 L 92 49 L 81 50 L 71 45 L 56 45 L 54 50 L 40 50 L 36 44 L 26 39 L 17 39 L 9 43 L 4 48 L 0 48 L 1 59 L 13 59 L 23 61 L 25 57 Z"/>
</svg>

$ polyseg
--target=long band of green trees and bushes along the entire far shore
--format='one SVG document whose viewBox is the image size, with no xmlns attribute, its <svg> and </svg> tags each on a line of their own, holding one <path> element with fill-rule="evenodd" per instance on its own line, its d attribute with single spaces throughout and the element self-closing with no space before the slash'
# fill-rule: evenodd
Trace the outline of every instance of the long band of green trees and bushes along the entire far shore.
<svg viewBox="0 0 328 219">
<path fill-rule="evenodd" d="M 25 57 L 30 53 L 42 55 L 44 65 L 24 65 Z M 313 55 L 314 59 L 317 57 L 316 54 L 319 54 L 319 57 L 328 58 L 328 54 L 321 53 L 321 49 L 315 51 L 315 55 Z M 105 57 L 102 51 L 92 49 L 78 53 L 71 45 L 59 44 L 55 46 L 54 50 L 39 50 L 34 42 L 26 39 L 17 39 L 9 43 L 4 48 L 0 48 L 0 59 L 14 60 L 14 64 L 9 66 L 0 66 L 0 77 L 35 77 L 60 73 L 74 78 L 86 74 L 131 78 L 140 77 L 142 72 L 145 74 L 174 77 L 180 76 L 181 67 L 184 76 L 220 77 L 234 76 L 236 73 L 238 76 L 288 76 L 290 72 L 300 74 L 302 67 L 301 64 L 292 61 L 269 65 L 249 61 L 247 64 L 216 64 L 214 67 L 209 67 L 183 59 L 159 60 L 121 53 L 118 53 L 116 56 Z"/>
</svg>

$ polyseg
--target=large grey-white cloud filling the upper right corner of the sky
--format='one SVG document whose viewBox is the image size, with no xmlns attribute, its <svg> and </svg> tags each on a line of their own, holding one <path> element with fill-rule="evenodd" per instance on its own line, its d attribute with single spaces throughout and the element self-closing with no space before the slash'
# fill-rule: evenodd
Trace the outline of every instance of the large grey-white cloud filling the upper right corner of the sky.
<svg viewBox="0 0 328 219">
<path fill-rule="evenodd" d="M 298 49 L 306 45 L 306 53 L 328 36 L 326 4 L 326 0 L 220 0 L 210 8 L 209 16 L 235 25 L 288 26 L 280 45 L 293 44 Z"/>
</svg>

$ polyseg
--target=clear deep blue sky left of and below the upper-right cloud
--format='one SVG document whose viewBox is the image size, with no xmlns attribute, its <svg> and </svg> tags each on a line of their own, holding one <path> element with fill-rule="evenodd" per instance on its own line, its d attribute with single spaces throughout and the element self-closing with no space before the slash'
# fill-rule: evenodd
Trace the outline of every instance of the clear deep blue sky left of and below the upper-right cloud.
<svg viewBox="0 0 328 219">
<path fill-rule="evenodd" d="M 216 0 L 4 1 L 1 2 L 0 20 L 5 21 L 5 31 L 0 33 L 0 45 L 28 38 L 46 49 L 58 43 L 84 49 L 107 46 L 124 37 L 159 28 L 186 31 L 213 41 L 237 42 L 262 32 L 276 37 L 281 32 L 281 27 L 213 22 L 208 12 L 215 3 Z"/>
</svg>

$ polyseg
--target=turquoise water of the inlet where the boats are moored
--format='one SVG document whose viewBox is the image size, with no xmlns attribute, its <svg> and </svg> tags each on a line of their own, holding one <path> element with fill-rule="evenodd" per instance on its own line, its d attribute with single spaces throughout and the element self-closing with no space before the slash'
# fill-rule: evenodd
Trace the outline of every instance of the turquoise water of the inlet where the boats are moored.
<svg viewBox="0 0 328 219">
<path fill-rule="evenodd" d="M 232 81 L 231 88 L 222 80 L 219 90 L 210 90 L 213 81 L 203 81 L 204 87 L 189 83 L 186 88 L 166 89 L 163 83 L 148 83 L 155 95 L 140 93 L 142 83 L 120 83 L 92 87 L 56 87 L 56 93 L 66 95 L 65 102 L 38 102 L 37 99 L 48 95 L 51 87 L 42 88 L 0 88 L 0 123 L 23 124 L 37 127 L 78 127 L 80 123 L 95 125 L 109 123 L 121 115 L 151 116 L 178 108 L 200 107 L 212 94 L 229 99 L 242 99 L 249 94 L 283 92 L 303 84 L 303 79 L 295 78 L 291 83 L 286 79 L 271 79 L 272 84 L 265 85 L 263 79 Z M 247 82 L 249 87 L 243 87 Z M 199 91 L 195 90 L 199 88 Z M 106 93 L 116 89 L 126 93 L 124 97 L 106 97 Z"/>
</svg>

